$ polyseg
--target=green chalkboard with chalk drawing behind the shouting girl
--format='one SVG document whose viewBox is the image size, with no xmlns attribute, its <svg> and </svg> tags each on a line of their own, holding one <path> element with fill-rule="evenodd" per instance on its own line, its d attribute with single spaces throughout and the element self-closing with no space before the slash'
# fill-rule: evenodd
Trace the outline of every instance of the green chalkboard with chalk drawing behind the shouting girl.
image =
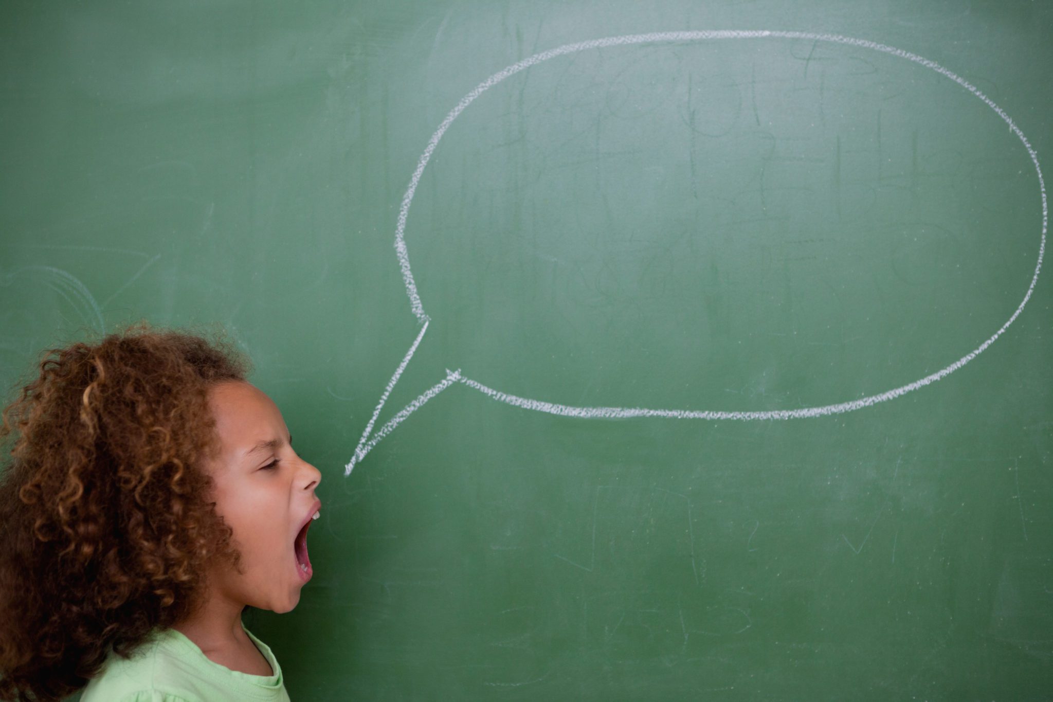
<svg viewBox="0 0 1053 702">
<path fill-rule="evenodd" d="M 8 2 L 0 380 L 218 322 L 294 700 L 1053 689 L 1053 8 Z"/>
</svg>

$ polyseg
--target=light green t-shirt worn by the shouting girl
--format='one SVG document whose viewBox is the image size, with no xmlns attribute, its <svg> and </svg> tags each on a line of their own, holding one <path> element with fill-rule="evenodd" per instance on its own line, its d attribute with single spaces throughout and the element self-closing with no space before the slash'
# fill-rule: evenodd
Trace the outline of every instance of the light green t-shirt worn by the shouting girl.
<svg viewBox="0 0 1053 702">
<path fill-rule="evenodd" d="M 272 676 L 232 670 L 208 658 L 176 629 L 155 629 L 125 660 L 113 653 L 80 702 L 289 702 L 281 667 L 271 648 L 241 628 L 271 664 Z"/>
</svg>

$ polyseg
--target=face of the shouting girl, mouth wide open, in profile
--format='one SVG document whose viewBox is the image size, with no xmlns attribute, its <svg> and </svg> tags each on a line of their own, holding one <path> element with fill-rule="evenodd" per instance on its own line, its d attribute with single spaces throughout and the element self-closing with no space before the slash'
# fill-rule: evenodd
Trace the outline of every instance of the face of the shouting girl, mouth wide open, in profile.
<svg viewBox="0 0 1053 702">
<path fill-rule="evenodd" d="M 208 402 L 220 452 L 205 466 L 215 483 L 216 512 L 234 530 L 243 571 L 225 564 L 214 568 L 210 597 L 290 611 L 311 578 L 301 566 L 310 561 L 300 533 L 321 507 L 315 496 L 321 473 L 296 455 L 277 405 L 255 386 L 218 383 Z"/>
</svg>

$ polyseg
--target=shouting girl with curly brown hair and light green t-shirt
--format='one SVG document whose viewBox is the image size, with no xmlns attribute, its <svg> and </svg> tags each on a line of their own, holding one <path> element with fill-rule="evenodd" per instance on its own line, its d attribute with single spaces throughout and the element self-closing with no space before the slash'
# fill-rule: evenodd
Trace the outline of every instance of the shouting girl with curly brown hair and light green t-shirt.
<svg viewBox="0 0 1053 702">
<path fill-rule="evenodd" d="M 299 602 L 321 475 L 247 370 L 145 323 L 44 355 L 0 428 L 0 700 L 289 700 L 241 614 Z"/>
</svg>

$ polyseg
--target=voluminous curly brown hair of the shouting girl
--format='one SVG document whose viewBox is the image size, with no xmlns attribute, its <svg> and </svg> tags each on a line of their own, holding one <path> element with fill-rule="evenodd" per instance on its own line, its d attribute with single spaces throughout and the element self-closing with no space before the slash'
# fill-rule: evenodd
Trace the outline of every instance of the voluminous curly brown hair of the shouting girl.
<svg viewBox="0 0 1053 702">
<path fill-rule="evenodd" d="M 212 559 L 239 566 L 198 466 L 210 386 L 250 367 L 146 322 L 42 354 L 0 428 L 0 700 L 71 695 L 192 614 Z"/>
</svg>

